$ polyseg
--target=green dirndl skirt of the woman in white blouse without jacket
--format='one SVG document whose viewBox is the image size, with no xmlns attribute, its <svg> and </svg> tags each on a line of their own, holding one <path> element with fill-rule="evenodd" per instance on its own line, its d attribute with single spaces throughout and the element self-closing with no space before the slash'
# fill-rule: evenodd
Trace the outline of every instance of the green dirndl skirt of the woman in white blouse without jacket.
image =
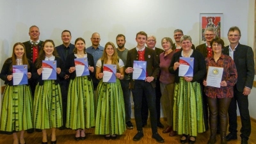
<svg viewBox="0 0 256 144">
<path fill-rule="evenodd" d="M 124 97 L 119 79 L 97 87 L 95 134 L 123 134 L 125 131 Z"/>
</svg>

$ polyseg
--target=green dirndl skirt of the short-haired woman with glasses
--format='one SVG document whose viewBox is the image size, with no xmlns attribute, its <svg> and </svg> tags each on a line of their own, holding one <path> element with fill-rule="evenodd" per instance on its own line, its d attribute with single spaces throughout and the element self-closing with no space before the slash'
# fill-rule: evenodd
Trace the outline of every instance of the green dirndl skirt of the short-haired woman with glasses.
<svg viewBox="0 0 256 144">
<path fill-rule="evenodd" d="M 203 101 L 200 84 L 187 82 L 180 77 L 175 83 L 173 97 L 173 130 L 178 134 L 197 136 L 205 131 Z"/>
</svg>

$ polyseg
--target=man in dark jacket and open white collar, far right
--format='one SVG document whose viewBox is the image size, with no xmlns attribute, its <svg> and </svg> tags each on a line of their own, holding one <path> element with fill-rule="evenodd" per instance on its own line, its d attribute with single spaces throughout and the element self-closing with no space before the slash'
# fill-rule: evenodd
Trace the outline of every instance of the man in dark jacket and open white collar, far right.
<svg viewBox="0 0 256 144">
<path fill-rule="evenodd" d="M 251 93 L 255 67 L 252 47 L 239 43 L 241 31 L 236 26 L 228 30 L 230 45 L 223 49 L 223 54 L 229 55 L 237 68 L 237 83 L 234 86 L 234 97 L 228 108 L 228 131 L 227 141 L 237 140 L 237 105 L 241 116 L 241 144 L 248 143 L 251 134 L 251 121 L 248 109 L 248 95 Z"/>
</svg>

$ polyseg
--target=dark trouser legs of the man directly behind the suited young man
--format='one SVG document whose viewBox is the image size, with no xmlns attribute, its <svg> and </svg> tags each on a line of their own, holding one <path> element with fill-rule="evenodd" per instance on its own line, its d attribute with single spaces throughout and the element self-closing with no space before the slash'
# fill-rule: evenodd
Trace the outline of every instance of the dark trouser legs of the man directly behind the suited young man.
<svg viewBox="0 0 256 144">
<path fill-rule="evenodd" d="M 161 89 L 160 89 L 160 81 L 159 79 L 156 80 L 156 113 L 157 113 L 157 121 L 160 121 L 160 115 L 161 115 L 161 106 L 160 106 L 160 100 L 161 100 Z M 147 98 L 145 96 L 145 93 L 143 93 L 143 100 L 142 100 L 142 107 L 141 107 L 141 117 L 142 117 L 142 123 L 147 124 L 148 120 L 148 103 Z"/>
</svg>

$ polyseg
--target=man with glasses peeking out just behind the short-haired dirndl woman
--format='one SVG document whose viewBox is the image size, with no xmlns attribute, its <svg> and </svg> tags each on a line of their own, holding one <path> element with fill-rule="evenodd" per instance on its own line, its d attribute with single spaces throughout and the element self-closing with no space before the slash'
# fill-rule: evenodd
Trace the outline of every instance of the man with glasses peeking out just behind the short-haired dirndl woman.
<svg viewBox="0 0 256 144">
<path fill-rule="evenodd" d="M 177 52 L 181 50 L 180 38 L 183 36 L 183 31 L 181 29 L 175 29 L 173 33 L 175 43 L 172 45 L 172 50 Z M 192 49 L 195 49 L 194 44 L 192 44 Z"/>
</svg>

